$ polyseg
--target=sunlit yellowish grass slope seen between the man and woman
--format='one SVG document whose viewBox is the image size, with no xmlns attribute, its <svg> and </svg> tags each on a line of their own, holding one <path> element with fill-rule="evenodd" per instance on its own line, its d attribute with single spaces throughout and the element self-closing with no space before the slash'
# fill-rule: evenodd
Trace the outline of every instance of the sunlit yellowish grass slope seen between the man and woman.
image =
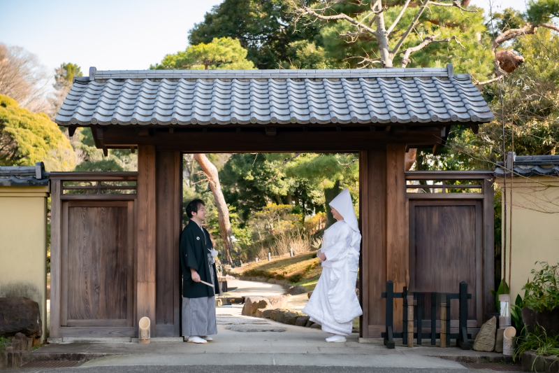
<svg viewBox="0 0 559 373">
<path fill-rule="evenodd" d="M 304 253 L 293 257 L 277 259 L 272 262 L 250 263 L 247 267 L 235 268 L 236 273 L 247 277 L 264 277 L 266 279 L 286 279 L 293 286 L 305 286 L 312 291 L 317 286 L 322 267 L 317 253 Z M 235 272 L 235 270 L 234 270 Z"/>
</svg>

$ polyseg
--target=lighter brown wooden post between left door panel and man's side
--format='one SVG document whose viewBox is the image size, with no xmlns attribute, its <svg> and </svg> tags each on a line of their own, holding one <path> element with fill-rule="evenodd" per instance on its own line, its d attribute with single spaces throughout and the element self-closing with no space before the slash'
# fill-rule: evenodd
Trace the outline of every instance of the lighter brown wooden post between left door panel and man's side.
<svg viewBox="0 0 559 373">
<path fill-rule="evenodd" d="M 155 333 L 156 272 L 156 162 L 155 146 L 138 146 L 138 247 L 136 255 L 136 325 L 150 318 Z"/>
</svg>

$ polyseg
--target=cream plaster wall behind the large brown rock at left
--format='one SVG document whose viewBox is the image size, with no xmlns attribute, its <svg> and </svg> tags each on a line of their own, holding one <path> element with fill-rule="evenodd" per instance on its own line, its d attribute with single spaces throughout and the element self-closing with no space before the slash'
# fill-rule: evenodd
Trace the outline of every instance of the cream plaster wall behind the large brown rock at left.
<svg viewBox="0 0 559 373">
<path fill-rule="evenodd" d="M 47 198 L 49 186 L 0 186 L 0 297 L 39 304 L 47 325 Z"/>
</svg>

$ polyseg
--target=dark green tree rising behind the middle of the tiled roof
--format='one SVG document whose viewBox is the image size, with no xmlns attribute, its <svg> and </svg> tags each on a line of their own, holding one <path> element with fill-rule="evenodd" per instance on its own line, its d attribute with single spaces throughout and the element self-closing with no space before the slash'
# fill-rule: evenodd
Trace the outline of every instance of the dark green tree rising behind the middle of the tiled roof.
<svg viewBox="0 0 559 373">
<path fill-rule="evenodd" d="M 206 13 L 189 33 L 189 43 L 210 43 L 213 38 L 230 37 L 248 50 L 247 59 L 257 69 L 277 69 L 289 61 L 294 41 L 316 42 L 321 46 L 318 27 L 295 32 L 286 0 L 224 0 Z"/>
</svg>

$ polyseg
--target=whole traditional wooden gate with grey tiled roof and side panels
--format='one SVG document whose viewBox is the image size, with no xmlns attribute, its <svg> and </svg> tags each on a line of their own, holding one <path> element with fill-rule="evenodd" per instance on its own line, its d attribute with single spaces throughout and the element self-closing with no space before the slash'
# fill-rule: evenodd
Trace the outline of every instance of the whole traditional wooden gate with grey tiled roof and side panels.
<svg viewBox="0 0 559 373">
<path fill-rule="evenodd" d="M 182 153 L 296 151 L 359 152 L 361 335 L 379 337 L 384 325 L 381 293 L 387 280 L 396 288 L 409 283 L 410 288 L 444 291 L 437 281 L 458 276 L 452 267 L 459 255 L 439 261 L 436 274 L 416 265 L 447 249 L 444 229 L 428 227 L 446 225 L 452 213 L 444 210 L 448 202 L 424 211 L 422 204 L 436 198 L 419 201 L 426 197 L 406 192 L 406 149 L 444 144 L 452 124 L 477 131 L 479 124 L 492 119 L 470 76 L 453 74 L 451 65 L 347 71 L 92 68 L 89 77 L 75 78 L 56 121 L 68 126 L 71 135 L 76 127 L 91 127 L 96 146 L 105 152 L 137 149 L 138 173 L 52 174 L 50 335 L 134 336 L 134 325 L 148 316 L 152 336 L 179 336 Z M 103 184 L 133 180 L 136 194 L 111 195 L 106 192 L 109 187 L 123 185 Z M 65 185 L 70 181 L 100 183 L 79 189 L 95 194 L 69 195 L 67 188 L 85 186 Z M 484 193 L 489 190 L 484 186 Z M 447 206 L 462 219 L 452 225 L 465 240 L 460 255 L 472 255 L 471 237 L 479 234 L 479 220 L 472 225 L 471 216 L 477 216 L 479 208 L 474 206 L 472 215 L 466 207 L 470 218 L 465 218 L 465 211 L 455 205 L 464 205 L 452 201 Z M 489 228 L 484 220 L 483 232 Z M 481 258 L 493 255 L 484 234 L 486 240 L 475 246 L 475 255 L 481 250 L 475 272 L 473 267 L 466 269 L 476 283 L 493 279 L 492 266 L 477 267 Z M 419 243 L 415 251 L 408 247 L 410 241 Z M 105 253 L 108 256 L 101 258 Z M 75 269 L 93 268 L 89 263 L 95 263 L 91 275 Z M 476 324 L 479 315 L 493 307 L 486 288 L 480 289 Z"/>
</svg>

